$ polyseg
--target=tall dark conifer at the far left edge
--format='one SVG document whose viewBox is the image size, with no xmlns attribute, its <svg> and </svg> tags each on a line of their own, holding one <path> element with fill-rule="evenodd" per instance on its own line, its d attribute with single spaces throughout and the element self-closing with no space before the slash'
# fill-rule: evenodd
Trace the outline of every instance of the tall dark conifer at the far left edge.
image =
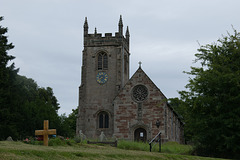
<svg viewBox="0 0 240 160">
<path fill-rule="evenodd" d="M 0 22 L 3 17 L 0 17 Z M 0 26 L 0 139 L 7 136 L 17 136 L 16 126 L 11 123 L 11 120 L 18 117 L 13 107 L 12 102 L 14 97 L 12 92 L 15 87 L 15 79 L 18 69 L 15 69 L 14 63 L 9 65 L 9 62 L 15 57 L 8 55 L 8 51 L 13 49 L 12 43 L 8 43 L 7 33 L 8 29 Z M 14 114 L 16 113 L 16 114 Z"/>
</svg>

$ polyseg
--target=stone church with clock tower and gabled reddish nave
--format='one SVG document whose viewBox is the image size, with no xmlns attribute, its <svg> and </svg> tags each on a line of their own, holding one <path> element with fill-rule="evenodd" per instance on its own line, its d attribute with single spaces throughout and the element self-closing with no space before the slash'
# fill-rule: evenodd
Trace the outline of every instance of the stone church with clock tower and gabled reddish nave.
<svg viewBox="0 0 240 160">
<path fill-rule="evenodd" d="M 184 123 L 167 98 L 141 68 L 129 78 L 129 29 L 88 33 L 84 22 L 81 85 L 76 134 L 149 141 L 161 132 L 163 142 L 184 142 Z"/>
</svg>

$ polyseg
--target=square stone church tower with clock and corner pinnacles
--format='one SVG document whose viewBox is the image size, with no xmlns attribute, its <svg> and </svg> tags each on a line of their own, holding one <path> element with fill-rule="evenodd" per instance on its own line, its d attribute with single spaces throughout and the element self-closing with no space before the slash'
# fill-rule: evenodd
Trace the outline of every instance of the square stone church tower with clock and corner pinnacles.
<svg viewBox="0 0 240 160">
<path fill-rule="evenodd" d="M 106 33 L 104 37 L 96 29 L 88 34 L 85 19 L 77 131 L 91 137 L 102 130 L 113 135 L 113 99 L 129 79 L 129 56 L 129 32 L 123 36 L 121 17 L 115 36 Z"/>
</svg>

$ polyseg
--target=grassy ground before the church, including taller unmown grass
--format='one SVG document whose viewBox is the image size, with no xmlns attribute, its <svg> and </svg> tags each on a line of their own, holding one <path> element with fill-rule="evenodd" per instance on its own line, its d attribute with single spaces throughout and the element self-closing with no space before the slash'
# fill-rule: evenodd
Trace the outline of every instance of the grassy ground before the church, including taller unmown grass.
<svg viewBox="0 0 240 160">
<path fill-rule="evenodd" d="M 99 141 L 99 139 L 91 140 Z M 148 143 L 118 141 L 118 147 L 103 144 L 87 144 L 87 140 L 76 143 L 74 139 L 51 138 L 49 146 L 30 139 L 23 141 L 0 141 L 0 159 L 185 159 L 214 160 L 215 158 L 190 155 L 192 147 L 169 142 L 158 145 L 149 152 Z"/>
</svg>

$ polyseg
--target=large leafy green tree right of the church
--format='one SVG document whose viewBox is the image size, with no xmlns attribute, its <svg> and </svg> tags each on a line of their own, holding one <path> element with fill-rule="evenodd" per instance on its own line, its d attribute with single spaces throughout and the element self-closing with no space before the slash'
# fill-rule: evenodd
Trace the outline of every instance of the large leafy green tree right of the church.
<svg viewBox="0 0 240 160">
<path fill-rule="evenodd" d="M 187 104 L 192 140 L 200 155 L 240 157 L 240 34 L 228 33 L 198 49 L 186 88 L 179 92 Z"/>
</svg>

